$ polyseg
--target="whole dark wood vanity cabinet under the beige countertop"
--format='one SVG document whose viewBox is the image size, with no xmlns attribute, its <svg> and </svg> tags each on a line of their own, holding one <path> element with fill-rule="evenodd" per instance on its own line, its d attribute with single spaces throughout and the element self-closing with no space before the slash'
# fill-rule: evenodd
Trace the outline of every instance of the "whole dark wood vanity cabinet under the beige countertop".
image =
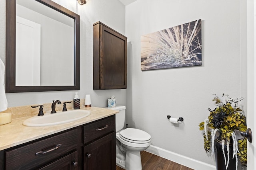
<svg viewBox="0 0 256 170">
<path fill-rule="evenodd" d="M 2 170 L 115 170 L 115 115 L 0 151 Z"/>
</svg>

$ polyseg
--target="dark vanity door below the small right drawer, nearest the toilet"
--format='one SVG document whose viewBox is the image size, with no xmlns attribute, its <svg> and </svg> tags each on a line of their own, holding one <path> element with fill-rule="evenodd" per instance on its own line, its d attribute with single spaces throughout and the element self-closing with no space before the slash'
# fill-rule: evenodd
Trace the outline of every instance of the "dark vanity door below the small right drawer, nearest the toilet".
<svg viewBox="0 0 256 170">
<path fill-rule="evenodd" d="M 90 143 L 84 147 L 84 170 L 116 169 L 116 133 Z"/>
</svg>

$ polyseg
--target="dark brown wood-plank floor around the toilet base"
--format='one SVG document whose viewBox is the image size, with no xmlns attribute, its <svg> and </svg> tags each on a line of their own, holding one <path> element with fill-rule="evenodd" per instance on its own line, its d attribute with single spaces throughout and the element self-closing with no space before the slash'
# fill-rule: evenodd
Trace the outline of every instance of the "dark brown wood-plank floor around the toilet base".
<svg viewBox="0 0 256 170">
<path fill-rule="evenodd" d="M 161 158 L 146 151 L 140 152 L 142 170 L 193 170 L 165 158 Z M 124 170 L 116 166 L 116 170 Z"/>
</svg>

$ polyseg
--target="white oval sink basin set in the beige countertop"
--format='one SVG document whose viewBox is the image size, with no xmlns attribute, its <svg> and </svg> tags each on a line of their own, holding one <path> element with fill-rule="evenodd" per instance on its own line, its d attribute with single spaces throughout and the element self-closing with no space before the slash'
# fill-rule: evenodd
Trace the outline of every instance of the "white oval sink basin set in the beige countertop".
<svg viewBox="0 0 256 170">
<path fill-rule="evenodd" d="M 58 111 L 57 113 L 45 113 L 43 116 L 34 116 L 23 121 L 25 126 L 49 126 L 58 125 L 61 123 L 67 123 L 82 119 L 90 115 L 88 110 L 70 110 L 70 111 Z"/>
</svg>

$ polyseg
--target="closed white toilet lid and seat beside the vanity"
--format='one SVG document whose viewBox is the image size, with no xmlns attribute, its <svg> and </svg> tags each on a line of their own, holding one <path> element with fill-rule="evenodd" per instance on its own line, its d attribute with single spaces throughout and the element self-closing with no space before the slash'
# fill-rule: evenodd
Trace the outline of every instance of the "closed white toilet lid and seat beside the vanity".
<svg viewBox="0 0 256 170">
<path fill-rule="evenodd" d="M 140 129 L 126 128 L 120 132 L 120 137 L 132 143 L 148 143 L 151 136 Z"/>
</svg>

